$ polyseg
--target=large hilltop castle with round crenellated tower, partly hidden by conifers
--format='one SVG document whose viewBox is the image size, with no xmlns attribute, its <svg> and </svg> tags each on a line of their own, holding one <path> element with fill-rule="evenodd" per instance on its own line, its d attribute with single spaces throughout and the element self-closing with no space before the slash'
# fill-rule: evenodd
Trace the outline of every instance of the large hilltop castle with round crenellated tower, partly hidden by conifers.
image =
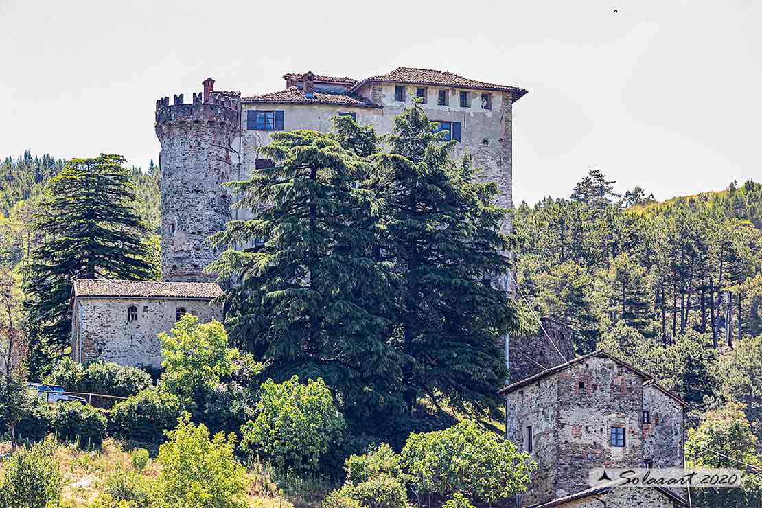
<svg viewBox="0 0 762 508">
<path fill-rule="evenodd" d="M 284 90 L 251 96 L 215 91 L 214 80 L 207 78 L 191 104 L 184 104 L 183 94 L 175 95 L 172 104 L 169 97 L 156 101 L 165 280 L 213 277 L 203 272 L 217 255 L 207 238 L 230 219 L 251 216 L 250 210 L 231 209 L 233 197 L 220 184 L 244 180 L 270 165 L 258 157 L 258 148 L 273 133 L 328 132 L 335 115 L 351 115 L 360 125 L 389 133 L 394 118 L 416 97 L 447 132 L 445 137 L 457 141 L 453 155 L 469 152 L 475 167 L 482 168 L 482 181 L 498 184 L 497 203 L 513 205 L 511 129 L 514 103 L 527 93 L 523 88 L 409 67 L 360 80 L 312 72 L 283 78 Z"/>
</svg>

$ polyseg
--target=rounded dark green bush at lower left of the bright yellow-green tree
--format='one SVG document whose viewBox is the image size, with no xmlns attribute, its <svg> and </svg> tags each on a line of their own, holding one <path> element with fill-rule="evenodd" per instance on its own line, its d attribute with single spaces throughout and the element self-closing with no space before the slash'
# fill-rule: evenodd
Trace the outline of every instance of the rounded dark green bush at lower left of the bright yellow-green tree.
<svg viewBox="0 0 762 508">
<path fill-rule="evenodd" d="M 111 422 L 120 439 L 142 443 L 162 443 L 165 430 L 178 423 L 180 400 L 177 395 L 149 388 L 114 407 Z"/>
</svg>

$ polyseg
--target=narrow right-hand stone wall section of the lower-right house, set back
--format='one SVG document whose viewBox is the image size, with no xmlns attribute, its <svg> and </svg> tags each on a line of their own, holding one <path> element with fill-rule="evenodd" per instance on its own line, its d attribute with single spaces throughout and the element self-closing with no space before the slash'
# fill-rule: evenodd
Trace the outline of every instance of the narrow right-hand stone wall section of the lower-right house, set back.
<svg viewBox="0 0 762 508">
<path fill-rule="evenodd" d="M 643 411 L 651 423 L 643 423 L 643 458 L 655 468 L 683 467 L 683 406 L 654 385 L 643 389 Z"/>
</svg>

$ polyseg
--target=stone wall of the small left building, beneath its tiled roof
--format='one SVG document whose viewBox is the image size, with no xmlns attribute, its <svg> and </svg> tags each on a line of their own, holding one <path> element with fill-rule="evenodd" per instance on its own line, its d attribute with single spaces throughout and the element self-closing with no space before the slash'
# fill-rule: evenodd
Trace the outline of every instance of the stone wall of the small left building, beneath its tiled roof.
<svg viewBox="0 0 762 508">
<path fill-rule="evenodd" d="M 138 310 L 135 321 L 127 320 L 131 305 Z M 158 367 L 162 353 L 157 335 L 171 330 L 178 308 L 197 315 L 202 323 L 222 320 L 222 309 L 205 299 L 80 297 L 72 316 L 72 359 Z"/>
</svg>

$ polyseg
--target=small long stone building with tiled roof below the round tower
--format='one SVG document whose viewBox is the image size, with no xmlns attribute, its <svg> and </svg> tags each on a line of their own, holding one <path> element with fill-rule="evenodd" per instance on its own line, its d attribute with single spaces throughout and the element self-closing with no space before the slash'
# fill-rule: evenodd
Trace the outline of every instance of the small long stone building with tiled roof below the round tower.
<svg viewBox="0 0 762 508">
<path fill-rule="evenodd" d="M 221 321 L 222 309 L 211 303 L 221 294 L 216 283 L 75 280 L 69 300 L 72 359 L 158 367 L 157 335 L 185 314 Z"/>
</svg>

